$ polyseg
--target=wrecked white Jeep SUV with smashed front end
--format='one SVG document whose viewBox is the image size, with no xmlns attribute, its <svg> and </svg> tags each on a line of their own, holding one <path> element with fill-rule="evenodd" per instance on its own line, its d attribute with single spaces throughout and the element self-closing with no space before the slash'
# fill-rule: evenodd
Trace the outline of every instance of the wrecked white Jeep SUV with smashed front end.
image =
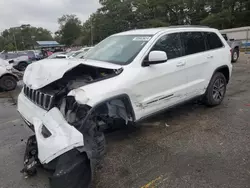
<svg viewBox="0 0 250 188">
<path fill-rule="evenodd" d="M 219 105 L 232 71 L 230 47 L 216 29 L 168 27 L 112 35 L 84 60 L 29 65 L 18 111 L 33 129 L 24 169 L 54 169 L 51 186 L 87 187 L 104 153 L 103 131 L 203 97 Z"/>
</svg>

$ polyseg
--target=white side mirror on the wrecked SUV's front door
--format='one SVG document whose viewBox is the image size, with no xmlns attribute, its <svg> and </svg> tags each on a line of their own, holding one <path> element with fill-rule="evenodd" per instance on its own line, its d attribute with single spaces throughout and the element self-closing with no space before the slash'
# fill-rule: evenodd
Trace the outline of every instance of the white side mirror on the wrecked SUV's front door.
<svg viewBox="0 0 250 188">
<path fill-rule="evenodd" d="M 148 55 L 148 60 L 144 60 L 143 65 L 164 63 L 168 60 L 167 54 L 164 51 L 151 51 Z"/>
</svg>

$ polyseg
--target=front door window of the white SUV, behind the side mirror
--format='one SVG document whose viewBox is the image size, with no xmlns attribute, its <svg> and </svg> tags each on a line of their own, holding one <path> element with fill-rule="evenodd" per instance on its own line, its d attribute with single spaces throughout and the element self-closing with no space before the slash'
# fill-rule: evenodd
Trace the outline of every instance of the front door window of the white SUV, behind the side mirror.
<svg viewBox="0 0 250 188">
<path fill-rule="evenodd" d="M 151 49 L 160 50 L 167 53 L 168 59 L 181 57 L 182 49 L 179 38 L 179 33 L 172 33 L 161 37 Z"/>
</svg>

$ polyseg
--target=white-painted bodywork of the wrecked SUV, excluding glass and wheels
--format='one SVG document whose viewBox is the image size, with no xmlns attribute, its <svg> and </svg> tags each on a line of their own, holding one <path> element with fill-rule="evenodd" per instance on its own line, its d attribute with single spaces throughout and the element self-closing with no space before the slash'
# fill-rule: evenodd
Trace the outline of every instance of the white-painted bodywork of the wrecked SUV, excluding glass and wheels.
<svg viewBox="0 0 250 188">
<path fill-rule="evenodd" d="M 215 32 L 224 43 L 220 49 L 169 59 L 161 64 L 143 67 L 145 57 L 156 41 L 166 34 L 184 31 Z M 94 60 L 52 59 L 33 63 L 25 71 L 24 83 L 32 89 L 39 89 L 63 77 L 64 73 L 79 64 L 109 69 L 123 69 L 116 77 L 85 85 L 71 91 L 79 103 L 95 106 L 109 98 L 126 94 L 135 112 L 135 120 L 205 93 L 216 68 L 227 65 L 232 71 L 230 47 L 219 31 L 211 28 L 157 28 L 133 30 L 117 35 L 152 35 L 152 38 L 137 54 L 134 60 L 120 66 Z M 92 49 L 95 50 L 95 49 Z M 56 156 L 74 147 L 83 145 L 83 136 L 67 124 L 58 109 L 45 111 L 30 102 L 21 93 L 18 111 L 35 124 L 38 139 L 39 159 L 49 162 Z M 41 125 L 53 133 L 49 139 L 42 139 Z M 73 138 L 74 137 L 74 138 Z"/>
</svg>

